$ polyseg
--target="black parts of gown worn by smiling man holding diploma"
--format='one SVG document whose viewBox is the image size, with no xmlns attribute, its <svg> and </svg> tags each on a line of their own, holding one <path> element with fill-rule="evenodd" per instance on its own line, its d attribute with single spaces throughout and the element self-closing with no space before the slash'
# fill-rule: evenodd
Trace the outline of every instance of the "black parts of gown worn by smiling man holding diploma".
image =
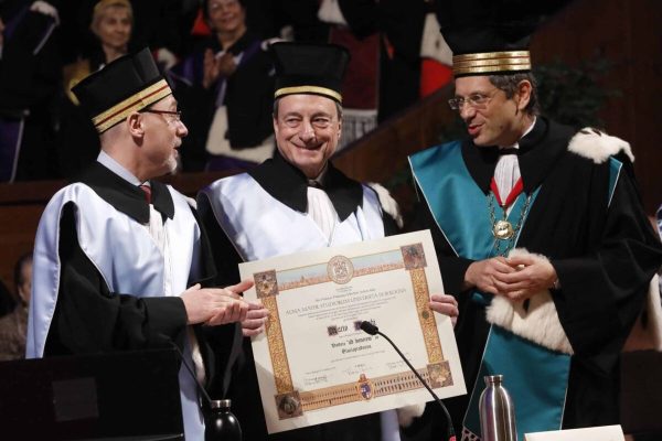
<svg viewBox="0 0 662 441">
<path fill-rule="evenodd" d="M 259 185 L 273 197 L 282 203 L 284 208 L 289 207 L 298 212 L 306 212 L 308 205 L 308 183 L 306 176 L 296 168 L 286 162 L 278 153 L 248 172 Z M 361 184 L 342 174 L 329 163 L 324 190 L 333 207 L 338 212 L 340 222 L 350 216 L 362 204 L 363 191 Z M 245 195 L 249 197 L 249 195 Z M 217 262 L 220 273 L 233 275 L 225 284 L 236 283 L 239 280 L 238 263 L 242 261 L 235 247 L 232 245 L 209 206 L 205 196 L 199 196 L 199 209 L 202 223 L 207 230 L 212 249 Z M 397 233 L 395 220 L 384 212 L 384 234 Z M 284 234 L 291 234 L 288 226 L 284 226 Z M 266 422 L 250 338 L 244 338 L 243 354 L 241 354 L 231 381 L 229 397 L 233 411 L 242 423 L 244 441 L 288 440 L 288 441 L 380 441 L 380 415 L 372 413 L 341 421 L 333 421 L 308 428 L 286 432 L 267 434 Z"/>
</svg>

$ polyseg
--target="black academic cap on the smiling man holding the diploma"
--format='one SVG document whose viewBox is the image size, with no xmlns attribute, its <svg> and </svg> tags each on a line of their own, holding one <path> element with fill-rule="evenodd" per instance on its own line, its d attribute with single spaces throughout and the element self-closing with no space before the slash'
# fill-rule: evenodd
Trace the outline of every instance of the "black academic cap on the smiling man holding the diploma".
<svg viewBox="0 0 662 441">
<path fill-rule="evenodd" d="M 337 44 L 271 44 L 276 68 L 274 98 L 313 94 L 342 103 L 341 86 L 350 53 Z"/>
</svg>

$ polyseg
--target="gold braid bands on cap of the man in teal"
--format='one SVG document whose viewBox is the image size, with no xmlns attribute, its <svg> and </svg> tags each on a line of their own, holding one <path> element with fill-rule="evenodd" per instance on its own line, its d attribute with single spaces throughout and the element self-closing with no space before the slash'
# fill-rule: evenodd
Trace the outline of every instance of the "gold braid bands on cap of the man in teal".
<svg viewBox="0 0 662 441">
<path fill-rule="evenodd" d="M 485 52 L 452 57 L 453 75 L 531 71 L 528 51 Z"/>
</svg>

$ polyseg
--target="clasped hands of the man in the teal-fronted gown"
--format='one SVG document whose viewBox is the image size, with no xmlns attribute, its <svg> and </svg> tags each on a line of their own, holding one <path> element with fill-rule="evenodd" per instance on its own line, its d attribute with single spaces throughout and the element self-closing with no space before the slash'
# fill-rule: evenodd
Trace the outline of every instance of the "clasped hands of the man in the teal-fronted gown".
<svg viewBox="0 0 662 441">
<path fill-rule="evenodd" d="M 478 260 L 465 275 L 466 288 L 477 288 L 513 301 L 531 298 L 536 292 L 553 288 L 556 270 L 544 258 L 534 256 L 493 257 Z"/>
</svg>

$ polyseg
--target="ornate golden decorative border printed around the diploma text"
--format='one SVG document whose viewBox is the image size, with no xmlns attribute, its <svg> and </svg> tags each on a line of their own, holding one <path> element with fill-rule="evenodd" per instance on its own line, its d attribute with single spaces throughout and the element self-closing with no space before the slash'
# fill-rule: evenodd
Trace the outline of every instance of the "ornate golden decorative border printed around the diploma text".
<svg viewBox="0 0 662 441">
<path fill-rule="evenodd" d="M 277 297 L 282 291 L 289 289 L 327 282 L 344 284 L 355 277 L 398 269 L 408 271 L 409 277 L 412 278 L 416 311 L 418 311 L 417 315 L 429 362 L 426 367 L 418 368 L 417 370 L 433 388 L 450 386 L 453 384 L 449 364 L 444 359 L 437 323 L 434 313 L 430 312 L 428 306 L 429 290 L 425 276 L 427 261 L 423 244 L 402 246 L 399 250 L 388 250 L 381 252 L 380 255 L 396 252 L 401 256 L 401 261 L 372 267 L 360 265 L 362 258 L 370 258 L 371 256 L 356 256 L 353 258 L 334 256 L 327 263 L 313 263 L 307 266 L 306 268 L 319 267 L 318 273 L 314 276 L 308 278 L 295 278 L 292 281 L 284 281 L 280 283 L 278 282 L 278 273 L 275 270 L 254 273 L 257 297 L 263 301 L 264 306 L 269 310 L 266 335 L 274 367 L 274 381 L 277 391 L 274 399 L 276 400 L 279 419 L 295 418 L 303 415 L 306 411 L 348 402 L 370 400 L 385 395 L 399 394 L 424 387 L 413 373 L 406 370 L 376 378 L 366 378 L 365 375 L 362 374 L 355 383 L 314 390 L 295 390 L 282 337 L 277 302 Z"/>
</svg>

